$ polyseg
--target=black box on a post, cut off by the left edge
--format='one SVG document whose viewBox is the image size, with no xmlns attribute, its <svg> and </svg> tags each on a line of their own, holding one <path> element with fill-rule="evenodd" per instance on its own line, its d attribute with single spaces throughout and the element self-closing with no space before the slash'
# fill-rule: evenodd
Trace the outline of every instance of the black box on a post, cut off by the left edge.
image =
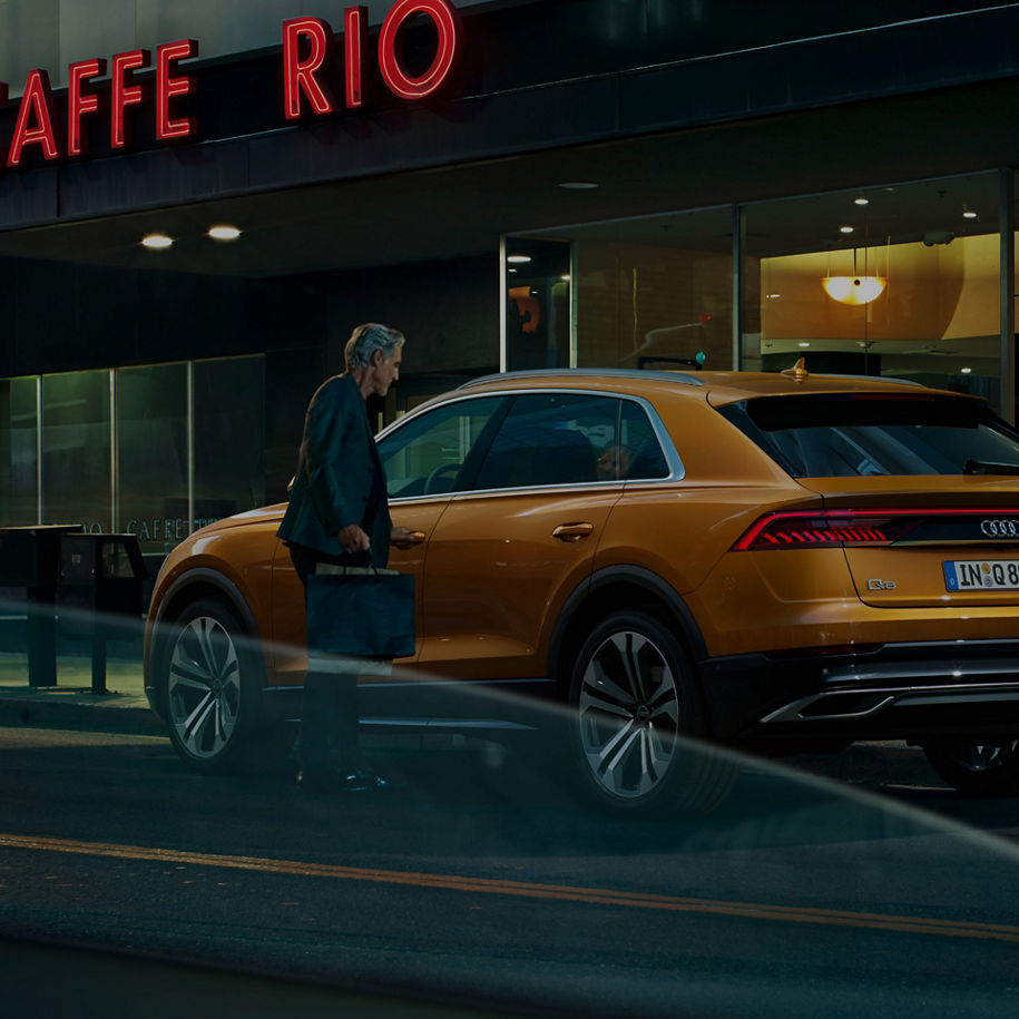
<svg viewBox="0 0 1019 1019">
<path fill-rule="evenodd" d="M 26 590 L 30 686 L 57 685 L 60 539 L 82 531 L 80 523 L 0 528 L 0 586 Z"/>
</svg>

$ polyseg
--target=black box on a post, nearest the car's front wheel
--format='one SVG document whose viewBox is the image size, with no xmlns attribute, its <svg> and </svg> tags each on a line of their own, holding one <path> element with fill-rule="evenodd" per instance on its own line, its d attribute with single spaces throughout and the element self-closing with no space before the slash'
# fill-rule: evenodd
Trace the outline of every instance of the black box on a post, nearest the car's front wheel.
<svg viewBox="0 0 1019 1019">
<path fill-rule="evenodd" d="M 117 619 L 137 625 L 147 571 L 136 535 L 66 533 L 60 538 L 57 608 L 60 635 L 92 643 L 92 693 L 106 693 L 106 644 Z M 127 627 L 127 639 L 137 630 Z"/>
</svg>

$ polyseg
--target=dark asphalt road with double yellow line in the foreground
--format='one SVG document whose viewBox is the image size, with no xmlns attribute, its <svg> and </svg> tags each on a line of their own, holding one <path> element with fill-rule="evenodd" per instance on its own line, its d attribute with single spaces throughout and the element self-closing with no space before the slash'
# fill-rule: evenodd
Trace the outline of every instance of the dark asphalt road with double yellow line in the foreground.
<svg viewBox="0 0 1019 1019">
<path fill-rule="evenodd" d="M 1019 1008 L 1019 806 L 922 758 L 751 767 L 668 823 L 594 816 L 526 755 L 379 763 L 398 788 L 337 798 L 0 728 L 4 1016 Z"/>
</svg>

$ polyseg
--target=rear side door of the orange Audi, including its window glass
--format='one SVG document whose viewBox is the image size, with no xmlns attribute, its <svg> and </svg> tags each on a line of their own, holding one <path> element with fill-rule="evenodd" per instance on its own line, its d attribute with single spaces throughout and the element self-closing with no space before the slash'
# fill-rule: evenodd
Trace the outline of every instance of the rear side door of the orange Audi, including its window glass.
<svg viewBox="0 0 1019 1019">
<path fill-rule="evenodd" d="M 615 461 L 604 455 L 618 413 L 610 395 L 515 398 L 429 538 L 421 673 L 545 676 L 551 626 L 590 576 L 623 492 Z M 610 462 L 607 473 L 599 461 Z"/>
</svg>

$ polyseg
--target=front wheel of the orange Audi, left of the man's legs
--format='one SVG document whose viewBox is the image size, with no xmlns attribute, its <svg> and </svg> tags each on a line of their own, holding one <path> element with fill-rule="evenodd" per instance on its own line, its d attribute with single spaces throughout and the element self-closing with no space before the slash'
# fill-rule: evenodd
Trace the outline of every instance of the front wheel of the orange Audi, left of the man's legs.
<svg viewBox="0 0 1019 1019">
<path fill-rule="evenodd" d="M 265 721 L 262 654 L 226 602 L 193 601 L 167 627 L 159 647 L 163 718 L 188 767 L 256 772 L 286 755 L 293 733 Z"/>
</svg>

